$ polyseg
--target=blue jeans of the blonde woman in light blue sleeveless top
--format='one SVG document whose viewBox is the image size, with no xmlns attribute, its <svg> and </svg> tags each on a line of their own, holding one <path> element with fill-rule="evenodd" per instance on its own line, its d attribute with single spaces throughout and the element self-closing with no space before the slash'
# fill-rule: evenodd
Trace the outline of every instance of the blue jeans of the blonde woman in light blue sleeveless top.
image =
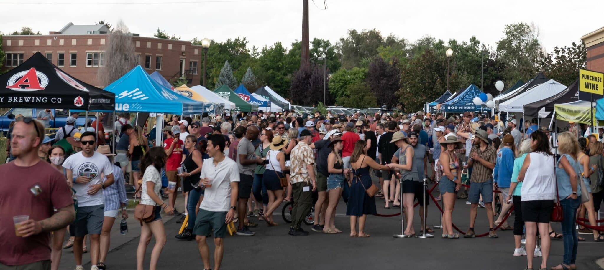
<svg viewBox="0 0 604 270">
<path fill-rule="evenodd" d="M 577 260 L 577 231 L 574 230 L 574 218 L 577 215 L 577 208 L 581 204 L 581 196 L 576 199 L 561 199 L 562 205 L 562 241 L 564 242 L 564 257 L 562 263 L 565 265 L 574 264 Z"/>
</svg>

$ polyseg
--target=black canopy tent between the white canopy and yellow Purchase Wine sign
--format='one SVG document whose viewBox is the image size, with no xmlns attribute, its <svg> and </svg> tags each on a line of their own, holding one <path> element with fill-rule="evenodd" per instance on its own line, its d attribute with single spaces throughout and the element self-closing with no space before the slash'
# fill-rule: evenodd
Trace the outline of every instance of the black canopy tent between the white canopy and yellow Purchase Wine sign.
<svg viewBox="0 0 604 270">
<path fill-rule="evenodd" d="M 550 98 L 541 99 L 524 105 L 524 115 L 532 118 L 551 118 L 555 104 L 564 104 L 579 100 L 579 80 L 575 80 L 562 92 Z"/>
</svg>

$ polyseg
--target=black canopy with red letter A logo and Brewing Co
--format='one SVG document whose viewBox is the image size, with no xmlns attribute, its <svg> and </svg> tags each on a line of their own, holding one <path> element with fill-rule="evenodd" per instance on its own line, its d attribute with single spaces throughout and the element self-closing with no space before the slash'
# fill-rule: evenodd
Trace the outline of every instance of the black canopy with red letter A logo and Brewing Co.
<svg viewBox="0 0 604 270">
<path fill-rule="evenodd" d="M 112 111 L 115 94 L 69 76 L 36 52 L 0 76 L 0 107 Z"/>
</svg>

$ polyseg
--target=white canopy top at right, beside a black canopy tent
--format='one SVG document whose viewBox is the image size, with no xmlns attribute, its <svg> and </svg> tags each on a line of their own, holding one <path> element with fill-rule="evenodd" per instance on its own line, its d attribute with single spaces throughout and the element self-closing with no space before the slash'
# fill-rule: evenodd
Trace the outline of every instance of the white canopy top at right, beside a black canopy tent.
<svg viewBox="0 0 604 270">
<path fill-rule="evenodd" d="M 554 80 L 549 80 L 543 84 L 539 84 L 533 89 L 529 89 L 524 93 L 520 93 L 513 98 L 508 99 L 506 102 L 499 104 L 499 110 L 506 111 L 508 113 L 522 112 L 522 107 L 524 107 L 524 105 L 540 101 L 544 98 L 550 98 L 551 96 L 562 92 L 562 90 L 566 88 L 567 86 L 564 84 L 558 83 Z"/>
</svg>

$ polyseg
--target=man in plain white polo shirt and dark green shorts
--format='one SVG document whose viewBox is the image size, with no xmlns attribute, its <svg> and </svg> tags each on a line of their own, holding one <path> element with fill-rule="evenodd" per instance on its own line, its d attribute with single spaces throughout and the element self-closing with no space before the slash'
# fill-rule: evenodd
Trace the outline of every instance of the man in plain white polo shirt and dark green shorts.
<svg viewBox="0 0 604 270">
<path fill-rule="evenodd" d="M 239 167 L 234 160 L 225 157 L 224 148 L 224 136 L 220 134 L 208 136 L 207 153 L 210 159 L 205 160 L 200 175 L 201 184 L 205 189 L 204 200 L 199 206 L 193 228 L 204 269 L 212 269 L 210 251 L 205 242 L 206 237 L 210 237 L 212 233 L 215 245 L 213 269 L 220 268 L 224 253 L 222 240 L 226 235 L 226 224 L 233 221 L 237 198 L 239 198 Z"/>
</svg>

